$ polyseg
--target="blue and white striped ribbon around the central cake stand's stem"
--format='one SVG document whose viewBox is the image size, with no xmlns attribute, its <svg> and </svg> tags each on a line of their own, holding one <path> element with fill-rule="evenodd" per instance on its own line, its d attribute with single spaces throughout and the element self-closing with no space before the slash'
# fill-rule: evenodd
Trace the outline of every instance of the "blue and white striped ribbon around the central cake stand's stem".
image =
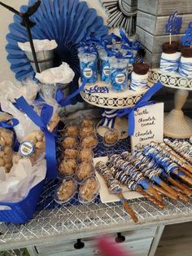
<svg viewBox="0 0 192 256">
<path fill-rule="evenodd" d="M 113 129 L 116 122 L 116 109 L 106 108 L 102 114 L 103 118 L 99 123 L 99 126 L 107 127 Z"/>
</svg>

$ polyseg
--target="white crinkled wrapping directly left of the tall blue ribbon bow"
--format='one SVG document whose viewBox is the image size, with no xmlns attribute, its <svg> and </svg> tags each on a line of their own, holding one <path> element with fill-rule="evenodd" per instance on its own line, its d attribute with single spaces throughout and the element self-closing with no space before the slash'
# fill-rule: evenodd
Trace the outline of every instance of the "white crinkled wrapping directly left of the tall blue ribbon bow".
<svg viewBox="0 0 192 256">
<path fill-rule="evenodd" d="M 39 130 L 39 127 L 36 126 L 28 116 L 17 108 L 8 100 L 0 99 L 1 108 L 3 112 L 11 114 L 14 118 L 17 118 L 20 123 L 14 127 L 18 141 L 21 143 L 22 139 L 28 134 L 32 133 L 35 130 Z"/>
</svg>

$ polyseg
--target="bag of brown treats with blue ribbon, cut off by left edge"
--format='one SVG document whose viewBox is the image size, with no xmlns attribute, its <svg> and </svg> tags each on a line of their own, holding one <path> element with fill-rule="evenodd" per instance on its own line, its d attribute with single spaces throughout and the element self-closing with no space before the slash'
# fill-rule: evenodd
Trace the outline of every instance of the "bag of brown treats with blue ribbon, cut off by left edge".
<svg viewBox="0 0 192 256">
<path fill-rule="evenodd" d="M 11 130 L 19 121 L 7 113 L 0 113 L 0 168 L 7 173 L 12 167 L 14 133 Z"/>
</svg>

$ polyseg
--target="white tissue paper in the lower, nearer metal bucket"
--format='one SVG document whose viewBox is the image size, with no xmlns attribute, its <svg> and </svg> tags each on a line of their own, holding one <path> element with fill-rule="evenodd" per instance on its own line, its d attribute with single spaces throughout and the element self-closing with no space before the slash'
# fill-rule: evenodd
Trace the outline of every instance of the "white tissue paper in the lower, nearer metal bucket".
<svg viewBox="0 0 192 256">
<path fill-rule="evenodd" d="M 72 82 L 74 76 L 75 73 L 72 71 L 72 68 L 65 62 L 57 68 L 49 68 L 41 73 L 36 73 L 36 78 L 39 82 L 46 84 L 68 84 Z"/>
</svg>

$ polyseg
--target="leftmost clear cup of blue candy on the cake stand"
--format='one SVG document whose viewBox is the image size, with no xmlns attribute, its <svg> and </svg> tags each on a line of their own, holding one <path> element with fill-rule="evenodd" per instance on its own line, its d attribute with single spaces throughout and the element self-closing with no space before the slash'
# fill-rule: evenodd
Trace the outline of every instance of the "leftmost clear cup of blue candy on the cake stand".
<svg viewBox="0 0 192 256">
<path fill-rule="evenodd" d="M 78 56 L 80 59 L 81 81 L 96 82 L 98 79 L 97 55 L 81 53 Z"/>
</svg>

